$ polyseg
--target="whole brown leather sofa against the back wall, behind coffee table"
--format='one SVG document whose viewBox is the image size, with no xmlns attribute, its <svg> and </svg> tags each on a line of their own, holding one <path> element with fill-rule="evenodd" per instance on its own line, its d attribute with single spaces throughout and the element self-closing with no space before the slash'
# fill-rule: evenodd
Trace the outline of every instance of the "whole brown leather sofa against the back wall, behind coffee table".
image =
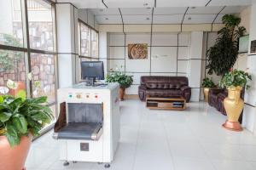
<svg viewBox="0 0 256 170">
<path fill-rule="evenodd" d="M 138 88 L 139 98 L 145 100 L 147 95 L 156 97 L 183 96 L 187 102 L 191 97 L 191 88 L 187 77 L 141 77 Z"/>
</svg>

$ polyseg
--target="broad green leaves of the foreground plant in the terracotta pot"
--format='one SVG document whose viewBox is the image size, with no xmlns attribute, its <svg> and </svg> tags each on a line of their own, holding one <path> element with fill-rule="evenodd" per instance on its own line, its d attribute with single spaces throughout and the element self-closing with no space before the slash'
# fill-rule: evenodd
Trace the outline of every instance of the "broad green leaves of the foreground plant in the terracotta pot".
<svg viewBox="0 0 256 170">
<path fill-rule="evenodd" d="M 34 99 L 0 96 L 0 129 L 14 147 L 20 144 L 23 135 L 38 135 L 45 123 L 51 122 L 53 116 L 48 106 L 43 105 L 47 97 Z"/>
</svg>

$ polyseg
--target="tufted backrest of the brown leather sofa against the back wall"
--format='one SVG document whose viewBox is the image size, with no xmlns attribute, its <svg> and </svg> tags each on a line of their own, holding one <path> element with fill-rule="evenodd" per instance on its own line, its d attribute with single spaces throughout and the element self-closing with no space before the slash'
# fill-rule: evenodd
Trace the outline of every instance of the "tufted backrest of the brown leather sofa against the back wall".
<svg viewBox="0 0 256 170">
<path fill-rule="evenodd" d="M 141 84 L 147 88 L 180 88 L 188 86 L 189 80 L 187 77 L 143 76 Z"/>
</svg>

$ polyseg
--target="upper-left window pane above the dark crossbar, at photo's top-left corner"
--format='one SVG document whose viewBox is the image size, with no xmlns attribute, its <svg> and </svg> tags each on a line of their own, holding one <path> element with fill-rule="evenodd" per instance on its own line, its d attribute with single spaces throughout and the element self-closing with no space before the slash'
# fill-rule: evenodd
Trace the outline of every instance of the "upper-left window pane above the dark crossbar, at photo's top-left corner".
<svg viewBox="0 0 256 170">
<path fill-rule="evenodd" d="M 0 44 L 23 47 L 20 0 L 0 0 Z"/>
</svg>

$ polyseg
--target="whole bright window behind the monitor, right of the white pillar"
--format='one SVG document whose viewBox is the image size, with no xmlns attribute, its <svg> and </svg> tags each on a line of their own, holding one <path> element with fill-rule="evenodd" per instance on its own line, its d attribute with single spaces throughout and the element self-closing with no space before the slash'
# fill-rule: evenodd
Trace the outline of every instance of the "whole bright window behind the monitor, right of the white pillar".
<svg viewBox="0 0 256 170">
<path fill-rule="evenodd" d="M 79 21 L 79 56 L 98 60 L 98 32 Z"/>
</svg>

